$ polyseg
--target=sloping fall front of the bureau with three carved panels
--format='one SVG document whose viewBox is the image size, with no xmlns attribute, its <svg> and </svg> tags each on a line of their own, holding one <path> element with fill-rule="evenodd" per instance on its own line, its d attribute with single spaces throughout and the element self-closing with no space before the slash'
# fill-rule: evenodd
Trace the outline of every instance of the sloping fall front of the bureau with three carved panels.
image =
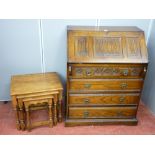
<svg viewBox="0 0 155 155">
<path fill-rule="evenodd" d="M 143 31 L 125 27 L 125 31 L 118 31 L 118 27 L 112 31 L 107 27 L 82 28 L 68 28 L 68 62 L 148 63 Z"/>
</svg>

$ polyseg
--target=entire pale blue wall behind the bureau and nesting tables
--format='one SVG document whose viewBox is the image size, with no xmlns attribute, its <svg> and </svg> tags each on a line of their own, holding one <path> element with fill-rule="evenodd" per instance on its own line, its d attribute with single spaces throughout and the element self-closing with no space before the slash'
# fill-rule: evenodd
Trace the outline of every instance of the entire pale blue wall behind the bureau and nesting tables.
<svg viewBox="0 0 155 155">
<path fill-rule="evenodd" d="M 10 100 L 10 78 L 15 74 L 56 71 L 65 86 L 67 25 L 137 26 L 145 32 L 149 51 L 153 55 L 155 47 L 152 35 L 155 31 L 152 24 L 154 22 L 149 19 L 0 20 L 0 100 Z M 153 58 L 150 59 L 152 60 Z M 149 93 L 147 83 L 150 84 L 149 76 L 152 75 L 149 75 L 149 72 L 152 72 L 153 65 L 153 62 L 149 65 L 145 93 L 144 97 L 142 96 L 144 101 L 147 101 L 145 94 Z M 152 89 L 155 90 L 155 87 Z M 152 105 L 153 101 L 153 98 L 150 98 L 146 103 Z M 149 107 L 153 107 L 152 111 L 155 112 L 155 106 L 151 105 Z"/>
</svg>

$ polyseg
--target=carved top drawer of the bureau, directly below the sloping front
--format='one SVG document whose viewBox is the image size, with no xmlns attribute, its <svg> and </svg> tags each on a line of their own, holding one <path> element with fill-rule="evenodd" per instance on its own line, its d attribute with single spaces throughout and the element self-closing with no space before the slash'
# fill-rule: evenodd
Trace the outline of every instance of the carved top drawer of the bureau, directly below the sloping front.
<svg viewBox="0 0 155 155">
<path fill-rule="evenodd" d="M 138 64 L 69 64 L 71 78 L 141 78 L 146 72 L 145 65 Z"/>
</svg>

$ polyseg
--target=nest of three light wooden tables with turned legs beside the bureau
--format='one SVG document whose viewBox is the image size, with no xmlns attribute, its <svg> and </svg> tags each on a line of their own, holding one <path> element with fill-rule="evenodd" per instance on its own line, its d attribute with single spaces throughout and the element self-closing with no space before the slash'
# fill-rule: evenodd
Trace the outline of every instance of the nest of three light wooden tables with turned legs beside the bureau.
<svg viewBox="0 0 155 155">
<path fill-rule="evenodd" d="M 47 103 L 53 109 L 54 125 L 62 121 L 62 94 L 63 86 L 57 73 L 38 73 L 15 75 L 11 78 L 11 97 L 12 105 L 16 116 L 16 127 L 18 130 L 25 130 L 30 124 L 26 124 L 29 120 L 29 111 L 26 115 L 26 110 L 33 104 L 42 101 L 50 101 Z M 53 97 L 54 96 L 54 97 Z M 52 101 L 52 103 L 51 103 Z M 50 126 L 51 126 L 51 109 Z M 38 123 L 45 124 L 45 123 Z"/>
</svg>

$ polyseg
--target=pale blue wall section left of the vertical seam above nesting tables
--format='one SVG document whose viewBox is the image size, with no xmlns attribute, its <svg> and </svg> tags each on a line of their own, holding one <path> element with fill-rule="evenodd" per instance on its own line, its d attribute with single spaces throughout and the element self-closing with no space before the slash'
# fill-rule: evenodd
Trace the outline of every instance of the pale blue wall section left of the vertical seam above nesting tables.
<svg viewBox="0 0 155 155">
<path fill-rule="evenodd" d="M 0 20 L 0 100 L 10 99 L 14 74 L 41 72 L 37 20 Z"/>
</svg>

